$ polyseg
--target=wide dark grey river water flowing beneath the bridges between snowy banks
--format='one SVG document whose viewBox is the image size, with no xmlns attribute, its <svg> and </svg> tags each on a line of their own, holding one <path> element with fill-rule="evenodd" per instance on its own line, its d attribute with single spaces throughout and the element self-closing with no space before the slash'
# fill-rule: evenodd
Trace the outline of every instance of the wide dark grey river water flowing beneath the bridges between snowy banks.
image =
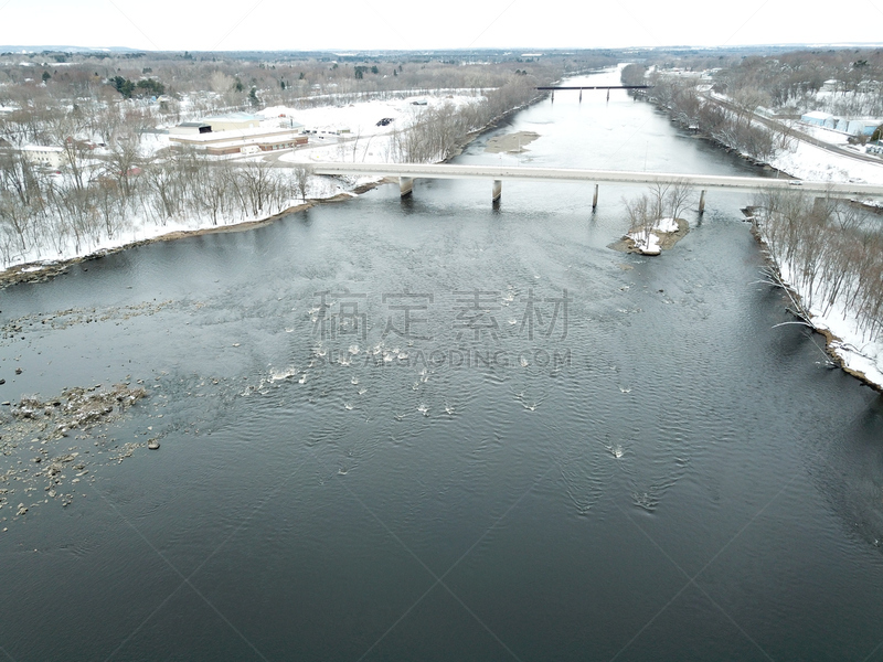
<svg viewBox="0 0 883 662">
<path fill-rule="evenodd" d="M 756 173 L 621 92 L 459 161 Z M 0 292 L 0 399 L 149 391 L 51 442 L 89 471 L 70 505 L 39 434 L 0 458 L 0 658 L 883 660 L 883 402 L 774 328 L 749 201 L 648 258 L 607 247 L 639 189 L 490 191 L 382 186 Z"/>
</svg>

